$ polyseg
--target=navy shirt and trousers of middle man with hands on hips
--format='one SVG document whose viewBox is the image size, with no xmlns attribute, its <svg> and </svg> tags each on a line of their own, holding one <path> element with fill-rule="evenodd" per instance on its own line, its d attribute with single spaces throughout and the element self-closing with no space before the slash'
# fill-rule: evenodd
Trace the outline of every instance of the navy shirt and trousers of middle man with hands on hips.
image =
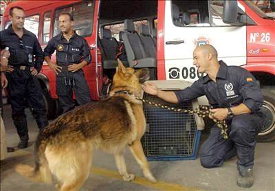
<svg viewBox="0 0 275 191">
<path fill-rule="evenodd" d="M 81 63 L 83 60 L 86 60 L 89 64 L 91 62 L 91 54 L 85 39 L 78 36 L 76 32 L 69 39 L 69 42 L 62 32 L 54 36 L 47 44 L 47 47 L 45 47 L 44 56 L 52 56 L 55 50 L 56 64 L 62 67 L 61 72 L 56 76 L 56 93 L 63 113 L 65 113 L 74 109 L 73 89 L 79 105 L 91 101 L 83 69 L 79 69 L 74 73 L 68 71 L 69 65 Z"/>
</svg>

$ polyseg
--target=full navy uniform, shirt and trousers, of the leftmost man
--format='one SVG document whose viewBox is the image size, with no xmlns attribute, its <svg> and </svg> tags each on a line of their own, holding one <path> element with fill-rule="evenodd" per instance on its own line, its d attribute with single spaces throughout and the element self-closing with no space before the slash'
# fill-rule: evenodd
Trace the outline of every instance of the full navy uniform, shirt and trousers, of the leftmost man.
<svg viewBox="0 0 275 191">
<path fill-rule="evenodd" d="M 32 32 L 23 29 L 23 36 L 19 38 L 14 33 L 12 25 L 1 31 L 0 45 L 1 49 L 10 48 L 8 65 L 14 67 L 14 71 L 6 73 L 12 105 L 12 120 L 21 141 L 28 142 L 28 126 L 25 115 L 27 106 L 32 107 L 32 114 L 40 130 L 48 124 L 39 80 L 30 71 L 31 67 L 34 67 L 38 72 L 41 70 L 44 60 L 43 51 Z"/>
</svg>

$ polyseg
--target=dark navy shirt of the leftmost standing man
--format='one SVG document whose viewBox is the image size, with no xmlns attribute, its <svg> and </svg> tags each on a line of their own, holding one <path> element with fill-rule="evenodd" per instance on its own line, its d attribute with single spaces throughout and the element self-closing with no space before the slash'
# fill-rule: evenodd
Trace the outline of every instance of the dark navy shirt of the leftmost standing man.
<svg viewBox="0 0 275 191">
<path fill-rule="evenodd" d="M 19 38 L 10 25 L 8 29 L 0 32 L 0 49 L 5 49 L 5 47 L 10 48 L 9 65 L 34 66 L 37 71 L 41 70 L 44 61 L 43 51 L 32 32 L 23 28 L 23 36 Z"/>
</svg>

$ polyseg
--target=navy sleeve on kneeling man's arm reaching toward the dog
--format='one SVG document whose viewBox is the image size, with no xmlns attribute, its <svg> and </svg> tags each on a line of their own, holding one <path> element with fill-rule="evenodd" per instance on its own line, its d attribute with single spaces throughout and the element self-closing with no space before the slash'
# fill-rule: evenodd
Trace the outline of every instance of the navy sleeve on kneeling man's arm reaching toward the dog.
<svg viewBox="0 0 275 191">
<path fill-rule="evenodd" d="M 190 87 L 187 87 L 184 90 L 174 92 L 177 96 L 177 101 L 179 103 L 191 102 L 192 100 L 199 98 L 202 95 L 205 95 L 203 82 L 201 79 L 195 81 Z"/>
</svg>

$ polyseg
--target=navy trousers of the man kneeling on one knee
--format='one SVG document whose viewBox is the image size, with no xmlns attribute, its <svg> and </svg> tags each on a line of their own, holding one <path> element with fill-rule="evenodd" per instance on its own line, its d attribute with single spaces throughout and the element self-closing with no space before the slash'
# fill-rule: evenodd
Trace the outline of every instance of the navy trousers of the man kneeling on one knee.
<svg viewBox="0 0 275 191">
<path fill-rule="evenodd" d="M 256 135 L 263 125 L 263 117 L 256 114 L 235 115 L 228 122 L 229 139 L 223 139 L 221 130 L 213 126 L 208 139 L 201 145 L 201 166 L 214 168 L 223 161 L 238 157 L 238 168 L 252 168 Z"/>
</svg>

